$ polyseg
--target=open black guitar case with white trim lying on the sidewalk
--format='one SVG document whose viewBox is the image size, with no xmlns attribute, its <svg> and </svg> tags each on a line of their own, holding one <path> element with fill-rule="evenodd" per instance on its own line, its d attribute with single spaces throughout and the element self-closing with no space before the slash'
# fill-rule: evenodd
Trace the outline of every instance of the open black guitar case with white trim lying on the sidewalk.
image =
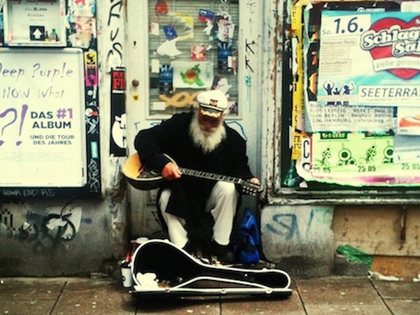
<svg viewBox="0 0 420 315">
<path fill-rule="evenodd" d="M 206 263 L 163 239 L 148 240 L 136 249 L 131 272 L 131 292 L 138 298 L 223 294 L 289 296 L 292 293 L 290 277 L 282 270 Z"/>
</svg>

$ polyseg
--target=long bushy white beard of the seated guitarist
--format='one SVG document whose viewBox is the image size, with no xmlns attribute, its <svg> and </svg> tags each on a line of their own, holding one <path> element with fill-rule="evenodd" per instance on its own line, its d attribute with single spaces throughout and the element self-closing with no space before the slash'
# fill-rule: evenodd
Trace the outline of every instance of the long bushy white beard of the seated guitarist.
<svg viewBox="0 0 420 315">
<path fill-rule="evenodd" d="M 200 147 L 205 154 L 216 149 L 226 137 L 223 121 L 213 131 L 203 131 L 198 124 L 198 112 L 196 111 L 190 124 L 190 135 L 197 147 Z"/>
</svg>

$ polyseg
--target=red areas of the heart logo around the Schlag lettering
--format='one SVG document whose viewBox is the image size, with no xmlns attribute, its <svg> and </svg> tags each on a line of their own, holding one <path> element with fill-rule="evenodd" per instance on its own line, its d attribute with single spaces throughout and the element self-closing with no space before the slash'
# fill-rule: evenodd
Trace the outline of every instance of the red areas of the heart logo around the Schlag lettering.
<svg viewBox="0 0 420 315">
<path fill-rule="evenodd" d="M 407 29 L 413 26 L 419 27 L 419 25 L 416 23 L 416 20 L 418 21 L 419 18 L 415 17 L 410 22 L 405 22 L 400 19 L 395 18 L 385 18 L 379 21 L 376 21 L 374 24 L 370 26 L 370 29 L 375 30 L 376 32 L 379 32 L 382 29 L 389 29 L 393 25 L 399 25 L 401 29 Z M 374 60 L 376 59 L 382 59 L 387 57 L 392 57 L 392 46 L 385 46 L 385 47 L 375 47 L 370 50 L 370 54 Z M 409 56 L 413 57 L 420 57 L 416 54 L 409 54 Z M 394 76 L 397 76 L 401 79 L 411 79 L 415 76 L 417 76 L 420 73 L 420 70 L 417 69 L 389 69 L 388 72 L 392 73 Z"/>
</svg>

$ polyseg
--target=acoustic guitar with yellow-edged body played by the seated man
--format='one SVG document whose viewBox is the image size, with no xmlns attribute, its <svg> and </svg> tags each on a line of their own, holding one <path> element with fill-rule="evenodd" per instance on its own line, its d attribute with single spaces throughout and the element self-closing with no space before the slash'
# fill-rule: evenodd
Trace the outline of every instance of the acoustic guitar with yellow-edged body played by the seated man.
<svg viewBox="0 0 420 315">
<path fill-rule="evenodd" d="M 171 157 L 167 157 L 175 163 Z M 253 184 L 242 178 L 198 171 L 185 167 L 179 167 L 179 170 L 183 176 L 186 175 L 208 180 L 238 184 L 242 187 L 244 193 L 250 195 L 256 195 L 257 193 L 261 193 L 264 190 L 263 185 Z M 133 187 L 140 190 L 155 189 L 160 187 L 165 182 L 165 179 L 162 177 L 159 171 L 148 170 L 144 167 L 144 165 L 141 164 L 138 153 L 132 154 L 127 158 L 122 167 L 122 174 L 127 178 L 128 182 L 133 185 Z"/>
</svg>

